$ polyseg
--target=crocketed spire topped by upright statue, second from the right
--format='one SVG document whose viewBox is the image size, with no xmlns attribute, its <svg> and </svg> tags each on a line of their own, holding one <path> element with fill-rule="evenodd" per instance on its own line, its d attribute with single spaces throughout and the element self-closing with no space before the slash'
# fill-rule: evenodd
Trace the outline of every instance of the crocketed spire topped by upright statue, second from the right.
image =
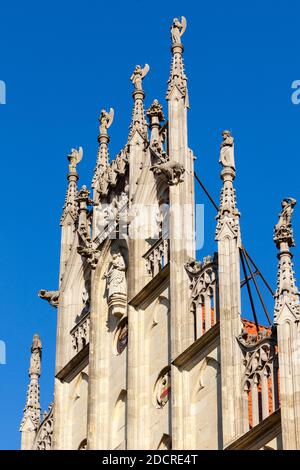
<svg viewBox="0 0 300 470">
<path fill-rule="evenodd" d="M 229 131 L 222 132 L 223 142 L 221 143 L 220 163 L 223 165 L 221 179 L 223 187 L 221 190 L 220 208 L 216 217 L 218 224 L 216 229 L 217 240 L 223 227 L 227 226 L 233 236 L 240 237 L 240 213 L 236 207 L 236 194 L 233 187 L 235 179 L 233 137 Z"/>
</svg>

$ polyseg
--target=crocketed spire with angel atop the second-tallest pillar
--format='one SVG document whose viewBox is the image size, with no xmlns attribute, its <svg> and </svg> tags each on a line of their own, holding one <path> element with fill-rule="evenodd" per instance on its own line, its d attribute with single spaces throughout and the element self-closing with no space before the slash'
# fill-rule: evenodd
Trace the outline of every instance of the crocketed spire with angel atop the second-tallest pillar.
<svg viewBox="0 0 300 470">
<path fill-rule="evenodd" d="M 150 67 L 148 64 L 145 64 L 143 68 L 141 67 L 141 65 L 137 65 L 134 69 L 133 74 L 130 77 L 130 80 L 132 81 L 134 86 L 134 91 L 132 93 L 134 104 L 132 110 L 132 120 L 129 128 L 128 141 L 130 141 L 135 130 L 138 130 L 144 139 L 147 138 L 148 126 L 144 110 L 145 92 L 143 90 L 142 83 L 149 70 Z"/>
</svg>

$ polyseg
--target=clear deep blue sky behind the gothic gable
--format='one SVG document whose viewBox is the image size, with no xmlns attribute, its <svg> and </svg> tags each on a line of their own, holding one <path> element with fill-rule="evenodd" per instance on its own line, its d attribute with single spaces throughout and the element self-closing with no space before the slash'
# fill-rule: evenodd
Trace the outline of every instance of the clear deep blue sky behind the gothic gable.
<svg viewBox="0 0 300 470">
<path fill-rule="evenodd" d="M 218 202 L 220 133 L 230 128 L 243 241 L 275 288 L 273 226 L 281 199 L 300 199 L 300 105 L 291 101 L 291 84 L 300 79 L 299 14 L 293 0 L 1 3 L 0 80 L 7 86 L 7 104 L 0 105 L 0 340 L 7 347 L 7 364 L 0 365 L 1 449 L 20 445 L 35 332 L 43 342 L 43 408 L 53 398 L 56 310 L 37 291 L 57 288 L 66 156 L 71 147 L 83 146 L 80 181 L 89 185 L 102 107 L 115 109 L 111 156 L 124 145 L 132 106 L 129 77 L 137 63 L 151 67 L 146 105 L 158 98 L 166 110 L 174 16 L 188 21 L 189 144 L 196 171 Z M 202 257 L 215 248 L 215 213 L 198 190 L 197 202 L 205 204 Z M 300 244 L 299 221 L 296 207 Z M 299 247 L 294 253 L 300 272 Z M 272 303 L 268 298 L 270 309 Z"/>
</svg>

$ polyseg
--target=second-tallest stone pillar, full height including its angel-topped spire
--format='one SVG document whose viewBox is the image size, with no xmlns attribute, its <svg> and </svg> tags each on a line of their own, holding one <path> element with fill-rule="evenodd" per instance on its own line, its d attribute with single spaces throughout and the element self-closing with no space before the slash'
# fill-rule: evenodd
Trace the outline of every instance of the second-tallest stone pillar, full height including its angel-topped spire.
<svg viewBox="0 0 300 470">
<path fill-rule="evenodd" d="M 140 175 L 145 165 L 149 165 L 149 151 L 146 151 L 147 123 L 144 111 L 145 93 L 142 89 L 142 79 L 149 70 L 146 64 L 142 69 L 139 65 L 131 77 L 134 85 L 132 122 L 128 137 L 129 148 L 129 214 L 133 217 L 129 227 L 128 239 L 128 300 L 130 301 L 145 285 L 145 264 L 142 258 L 145 246 L 139 233 L 139 204 L 137 187 Z M 144 317 L 134 305 L 128 305 L 128 401 L 127 401 L 127 448 L 148 449 L 147 436 L 148 404 L 146 400 L 145 375 L 147 354 L 144 342 Z M 147 397 L 148 398 L 148 397 Z"/>
</svg>

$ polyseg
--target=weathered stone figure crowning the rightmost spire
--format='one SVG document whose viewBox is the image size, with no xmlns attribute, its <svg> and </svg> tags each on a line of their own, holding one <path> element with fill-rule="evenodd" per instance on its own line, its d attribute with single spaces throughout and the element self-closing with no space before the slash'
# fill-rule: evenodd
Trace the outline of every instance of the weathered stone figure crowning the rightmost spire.
<svg viewBox="0 0 300 470">
<path fill-rule="evenodd" d="M 281 203 L 279 221 L 274 228 L 274 241 L 277 248 L 280 248 L 281 243 L 286 243 L 288 246 L 295 245 L 291 220 L 296 203 L 296 199 L 291 197 L 283 199 Z"/>
</svg>

